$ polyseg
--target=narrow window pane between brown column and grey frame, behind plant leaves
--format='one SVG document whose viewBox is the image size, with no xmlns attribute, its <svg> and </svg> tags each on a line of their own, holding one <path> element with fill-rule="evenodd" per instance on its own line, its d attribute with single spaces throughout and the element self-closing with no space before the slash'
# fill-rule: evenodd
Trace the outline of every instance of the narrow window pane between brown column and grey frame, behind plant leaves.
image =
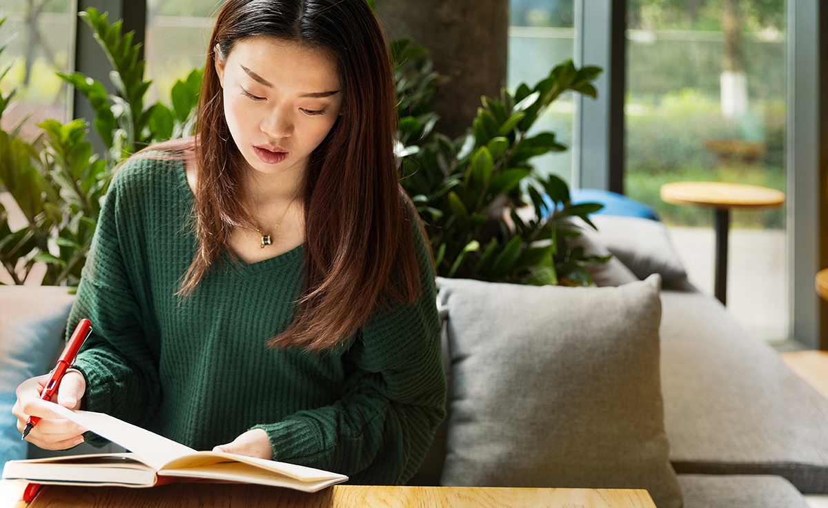
<svg viewBox="0 0 828 508">
<path fill-rule="evenodd" d="M 572 0 L 510 0 L 509 54 L 507 84 L 510 92 L 526 83 L 532 88 L 546 78 L 551 69 L 573 55 L 575 7 Z M 572 145 L 571 93 L 557 98 L 537 119 L 534 132 L 555 132 L 558 141 Z M 532 159 L 542 174 L 554 173 L 569 183 L 572 153 L 564 151 Z"/>
</svg>

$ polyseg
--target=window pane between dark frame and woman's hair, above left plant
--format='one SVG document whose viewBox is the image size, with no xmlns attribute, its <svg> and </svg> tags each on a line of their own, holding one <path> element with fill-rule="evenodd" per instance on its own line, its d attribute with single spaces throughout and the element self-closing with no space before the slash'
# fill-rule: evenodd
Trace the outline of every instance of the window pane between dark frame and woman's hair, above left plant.
<svg viewBox="0 0 828 508">
<path fill-rule="evenodd" d="M 147 0 L 147 78 L 149 101 L 169 105 L 176 79 L 205 65 L 215 16 L 224 0 Z"/>
</svg>

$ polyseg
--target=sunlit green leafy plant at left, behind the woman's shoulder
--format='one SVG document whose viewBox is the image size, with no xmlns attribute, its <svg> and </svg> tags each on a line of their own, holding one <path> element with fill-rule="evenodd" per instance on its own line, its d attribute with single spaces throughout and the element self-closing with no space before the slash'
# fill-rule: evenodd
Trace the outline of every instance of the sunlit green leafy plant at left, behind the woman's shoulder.
<svg viewBox="0 0 828 508">
<path fill-rule="evenodd" d="M 144 62 L 137 60 L 139 46 L 132 44 L 132 33 L 122 34 L 121 22 L 110 26 L 107 15 L 94 8 L 79 16 L 113 65 L 110 79 L 117 93 L 107 93 L 84 74 L 59 75 L 92 104 L 94 128 L 107 150 L 103 157 L 94 153 L 87 140 L 89 125 L 82 119 L 41 122 L 41 134 L 33 141 L 18 136 L 20 126 L 0 130 L 0 183 L 27 222 L 12 231 L 0 204 L 0 261 L 15 284 L 25 282 L 31 268 L 42 262 L 42 285 L 77 285 L 118 163 L 152 142 L 187 135 L 195 117 L 200 70 L 173 86 L 173 108 L 162 103 L 144 108 L 151 82 L 143 79 Z M 0 117 L 13 96 L 13 90 L 0 96 Z"/>
</svg>

